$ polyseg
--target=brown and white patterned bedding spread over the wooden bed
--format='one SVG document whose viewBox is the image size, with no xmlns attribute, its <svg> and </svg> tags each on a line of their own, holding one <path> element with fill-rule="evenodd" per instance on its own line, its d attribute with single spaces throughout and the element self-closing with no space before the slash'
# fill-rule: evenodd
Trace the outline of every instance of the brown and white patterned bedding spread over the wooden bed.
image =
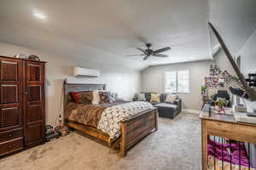
<svg viewBox="0 0 256 170">
<path fill-rule="evenodd" d="M 115 139 L 120 135 L 119 122 L 150 109 L 154 109 L 154 106 L 143 101 L 103 105 L 70 103 L 67 105 L 67 113 L 65 114 L 67 117 L 65 118 L 86 126 L 96 127 L 103 133 L 108 133 L 110 139 Z"/>
</svg>

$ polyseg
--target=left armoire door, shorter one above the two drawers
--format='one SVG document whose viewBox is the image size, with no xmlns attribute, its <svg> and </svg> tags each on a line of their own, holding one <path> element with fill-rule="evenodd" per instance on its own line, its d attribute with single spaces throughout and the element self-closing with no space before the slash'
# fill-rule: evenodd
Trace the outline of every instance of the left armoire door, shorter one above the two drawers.
<svg viewBox="0 0 256 170">
<path fill-rule="evenodd" d="M 23 127 L 22 61 L 0 58 L 0 133 Z"/>
</svg>

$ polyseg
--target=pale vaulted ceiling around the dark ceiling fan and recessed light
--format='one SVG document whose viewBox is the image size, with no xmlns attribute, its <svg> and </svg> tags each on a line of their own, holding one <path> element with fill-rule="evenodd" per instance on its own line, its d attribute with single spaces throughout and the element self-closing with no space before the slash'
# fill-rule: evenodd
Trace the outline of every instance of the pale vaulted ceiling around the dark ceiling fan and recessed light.
<svg viewBox="0 0 256 170">
<path fill-rule="evenodd" d="M 242 14 L 239 19 L 249 17 L 237 24 L 239 28 L 235 24 L 237 18 L 230 14 L 233 14 L 233 2 L 238 4 L 234 6 L 236 15 Z M 255 28 L 253 2 L 255 0 L 6 0 L 0 5 L 0 42 L 133 69 L 212 59 L 207 21 L 211 20 L 233 47 L 231 43 L 235 40 L 228 36 L 229 32 L 245 41 Z M 238 10 L 240 4 L 243 12 Z M 248 6 L 249 10 L 244 10 Z M 35 13 L 45 14 L 46 20 L 35 18 Z M 247 28 L 243 29 L 241 24 Z M 126 57 L 140 54 L 136 48 L 145 48 L 145 42 L 151 42 L 153 49 L 171 47 L 172 50 L 165 53 L 170 57 L 152 57 L 147 61 Z M 241 44 L 236 43 L 235 48 L 239 46 Z"/>
</svg>

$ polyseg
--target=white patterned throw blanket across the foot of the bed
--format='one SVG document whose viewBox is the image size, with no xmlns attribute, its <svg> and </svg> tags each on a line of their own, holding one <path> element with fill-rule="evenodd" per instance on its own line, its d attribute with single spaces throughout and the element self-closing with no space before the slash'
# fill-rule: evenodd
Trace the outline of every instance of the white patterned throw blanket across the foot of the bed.
<svg viewBox="0 0 256 170">
<path fill-rule="evenodd" d="M 102 118 L 97 128 L 101 129 L 104 133 L 108 133 L 110 139 L 118 138 L 120 135 L 120 122 L 122 120 L 150 109 L 154 109 L 154 106 L 143 101 L 108 107 L 102 112 Z"/>
</svg>

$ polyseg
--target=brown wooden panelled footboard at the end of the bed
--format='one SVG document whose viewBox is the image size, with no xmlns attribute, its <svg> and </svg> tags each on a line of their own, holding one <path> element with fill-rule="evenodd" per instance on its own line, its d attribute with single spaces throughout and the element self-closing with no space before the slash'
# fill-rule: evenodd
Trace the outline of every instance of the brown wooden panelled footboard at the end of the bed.
<svg viewBox="0 0 256 170">
<path fill-rule="evenodd" d="M 158 114 L 156 109 L 144 111 L 143 113 L 132 116 L 120 122 L 121 139 L 119 156 L 126 156 L 127 150 L 137 144 L 149 133 L 158 128 Z"/>
</svg>

